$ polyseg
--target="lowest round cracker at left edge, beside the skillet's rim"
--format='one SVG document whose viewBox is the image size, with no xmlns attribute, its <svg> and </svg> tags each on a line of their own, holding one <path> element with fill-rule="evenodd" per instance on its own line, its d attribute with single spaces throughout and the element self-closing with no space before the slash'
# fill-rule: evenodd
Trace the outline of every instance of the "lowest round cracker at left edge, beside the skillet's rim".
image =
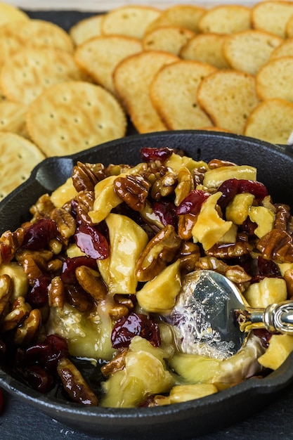
<svg viewBox="0 0 293 440">
<path fill-rule="evenodd" d="M 14 133 L 0 133 L 0 200 L 30 177 L 45 155 L 37 145 Z"/>
</svg>

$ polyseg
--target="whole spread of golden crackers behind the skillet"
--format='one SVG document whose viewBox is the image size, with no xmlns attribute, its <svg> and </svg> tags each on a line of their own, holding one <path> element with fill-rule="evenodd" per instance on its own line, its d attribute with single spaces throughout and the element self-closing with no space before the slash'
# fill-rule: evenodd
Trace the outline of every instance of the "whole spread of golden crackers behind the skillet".
<svg viewBox="0 0 293 440">
<path fill-rule="evenodd" d="M 244 4 L 127 5 L 65 32 L 0 3 L 0 199 L 44 157 L 121 138 L 128 120 L 141 134 L 207 129 L 286 143 L 293 2 Z"/>
</svg>

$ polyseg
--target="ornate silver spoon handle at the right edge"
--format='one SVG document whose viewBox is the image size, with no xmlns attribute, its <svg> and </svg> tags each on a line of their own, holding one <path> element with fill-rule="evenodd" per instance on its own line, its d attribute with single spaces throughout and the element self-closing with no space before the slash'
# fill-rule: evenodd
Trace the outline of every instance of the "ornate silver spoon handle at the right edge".
<svg viewBox="0 0 293 440">
<path fill-rule="evenodd" d="M 247 308 L 246 323 L 242 323 L 245 331 L 255 328 L 266 328 L 272 333 L 293 335 L 293 301 L 271 304 L 266 309 Z"/>
</svg>

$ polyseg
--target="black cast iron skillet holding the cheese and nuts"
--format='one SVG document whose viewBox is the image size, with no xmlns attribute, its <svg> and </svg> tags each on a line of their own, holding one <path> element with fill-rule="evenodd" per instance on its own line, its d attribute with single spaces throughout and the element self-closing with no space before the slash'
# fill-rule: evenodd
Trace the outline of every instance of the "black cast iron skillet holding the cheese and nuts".
<svg viewBox="0 0 293 440">
<path fill-rule="evenodd" d="M 214 158 L 256 167 L 274 202 L 293 206 L 293 154 L 289 146 L 271 145 L 252 138 L 210 131 L 171 131 L 133 135 L 98 145 L 68 157 L 41 162 L 28 181 L 0 203 L 0 233 L 30 219 L 29 207 L 41 194 L 51 192 L 82 162 L 136 164 L 142 147 L 180 148 L 195 160 Z M 218 394 L 157 408 L 81 407 L 35 392 L 18 382 L 3 366 L 0 386 L 65 425 L 107 439 L 188 439 L 221 429 L 265 406 L 293 380 L 293 356 L 266 378 L 253 378 Z"/>
</svg>

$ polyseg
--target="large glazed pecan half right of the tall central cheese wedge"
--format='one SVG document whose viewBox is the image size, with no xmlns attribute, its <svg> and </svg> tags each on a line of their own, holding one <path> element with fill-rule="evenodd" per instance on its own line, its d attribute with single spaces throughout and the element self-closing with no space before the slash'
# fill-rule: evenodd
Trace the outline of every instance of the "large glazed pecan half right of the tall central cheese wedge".
<svg viewBox="0 0 293 440">
<path fill-rule="evenodd" d="M 152 280 L 174 259 L 180 246 L 181 239 L 176 234 L 174 226 L 165 226 L 148 242 L 136 262 L 137 280 Z"/>
</svg>

